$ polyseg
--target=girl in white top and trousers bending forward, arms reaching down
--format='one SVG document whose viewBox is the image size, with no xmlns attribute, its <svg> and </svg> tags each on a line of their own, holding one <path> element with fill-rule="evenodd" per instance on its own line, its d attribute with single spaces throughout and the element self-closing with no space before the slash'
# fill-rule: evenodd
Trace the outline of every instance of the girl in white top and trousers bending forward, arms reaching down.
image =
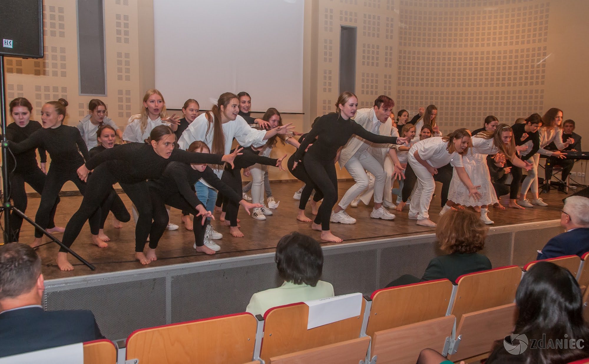
<svg viewBox="0 0 589 364">
<path fill-rule="evenodd" d="M 462 154 L 468 151 L 471 133 L 460 128 L 447 137 L 432 137 L 418 141 L 409 150 L 409 164 L 417 177 L 417 187 L 411 198 L 409 219 L 417 220 L 421 226 L 435 227 L 436 223 L 429 220 L 429 203 L 434 195 L 434 174 L 440 167 L 450 163 L 461 181 L 468 188 L 468 193 L 474 198 L 480 198 L 481 193 L 474 186 L 462 166 Z"/>
</svg>

